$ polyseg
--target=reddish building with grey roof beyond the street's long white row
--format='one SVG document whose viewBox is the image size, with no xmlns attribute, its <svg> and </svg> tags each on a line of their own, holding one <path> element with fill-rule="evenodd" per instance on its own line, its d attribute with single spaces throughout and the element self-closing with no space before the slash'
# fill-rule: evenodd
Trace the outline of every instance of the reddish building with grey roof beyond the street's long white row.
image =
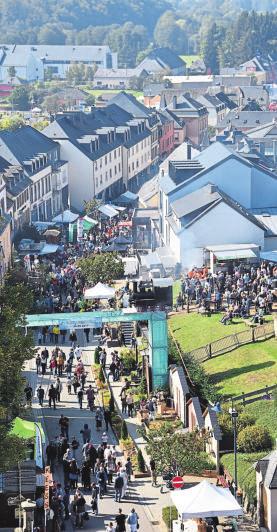
<svg viewBox="0 0 277 532">
<path fill-rule="evenodd" d="M 186 137 L 193 144 L 207 145 L 208 111 L 205 105 L 192 98 L 189 93 L 185 93 L 179 98 L 173 96 L 172 102 L 166 105 L 166 110 L 172 112 L 178 121 L 185 123 Z"/>
</svg>

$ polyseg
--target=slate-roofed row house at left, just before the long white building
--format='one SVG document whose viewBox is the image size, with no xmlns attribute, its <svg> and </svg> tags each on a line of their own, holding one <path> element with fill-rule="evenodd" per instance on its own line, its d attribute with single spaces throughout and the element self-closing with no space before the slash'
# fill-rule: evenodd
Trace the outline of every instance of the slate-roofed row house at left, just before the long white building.
<svg viewBox="0 0 277 532">
<path fill-rule="evenodd" d="M 28 210 L 29 221 L 36 222 L 51 220 L 67 206 L 67 162 L 60 159 L 58 143 L 30 126 L 2 130 L 0 156 L 11 165 L 4 179 L 17 227 Z"/>
</svg>

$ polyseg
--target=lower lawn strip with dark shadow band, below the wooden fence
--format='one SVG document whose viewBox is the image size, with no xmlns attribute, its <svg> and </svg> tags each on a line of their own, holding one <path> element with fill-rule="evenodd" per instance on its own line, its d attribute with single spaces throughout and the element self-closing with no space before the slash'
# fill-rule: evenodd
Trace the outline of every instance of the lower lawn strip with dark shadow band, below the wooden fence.
<svg viewBox="0 0 277 532">
<path fill-rule="evenodd" d="M 240 395 L 277 383 L 277 341 L 275 338 L 249 344 L 204 363 L 219 393 Z"/>
</svg>

